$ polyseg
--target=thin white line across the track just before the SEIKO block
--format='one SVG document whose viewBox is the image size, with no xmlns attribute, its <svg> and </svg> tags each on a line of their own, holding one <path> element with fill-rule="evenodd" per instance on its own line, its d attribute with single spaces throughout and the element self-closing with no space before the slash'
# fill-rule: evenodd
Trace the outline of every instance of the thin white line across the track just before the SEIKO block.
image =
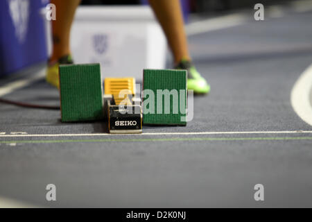
<svg viewBox="0 0 312 222">
<path fill-rule="evenodd" d="M 187 132 L 187 133 L 142 133 L 137 136 L 145 135 L 227 135 L 227 134 L 312 134 L 312 131 L 241 131 L 241 132 Z M 78 133 L 78 134 L 28 134 L 28 135 L 0 135 L 0 137 L 92 137 L 92 136 L 120 136 L 133 134 L 109 134 L 109 133 Z"/>
</svg>

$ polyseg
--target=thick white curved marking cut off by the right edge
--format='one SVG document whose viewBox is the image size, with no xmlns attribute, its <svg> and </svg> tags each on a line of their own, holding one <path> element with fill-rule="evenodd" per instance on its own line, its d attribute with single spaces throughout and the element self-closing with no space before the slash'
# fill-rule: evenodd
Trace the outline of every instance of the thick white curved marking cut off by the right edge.
<svg viewBox="0 0 312 222">
<path fill-rule="evenodd" d="M 310 65 L 295 83 L 291 91 L 291 105 L 297 115 L 312 126 L 312 107 L 310 92 L 312 90 L 312 65 Z"/>
</svg>

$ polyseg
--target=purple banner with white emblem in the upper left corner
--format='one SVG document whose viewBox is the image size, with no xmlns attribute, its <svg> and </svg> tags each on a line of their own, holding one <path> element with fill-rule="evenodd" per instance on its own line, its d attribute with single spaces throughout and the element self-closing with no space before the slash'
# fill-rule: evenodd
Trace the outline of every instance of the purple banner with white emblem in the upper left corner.
<svg viewBox="0 0 312 222">
<path fill-rule="evenodd" d="M 0 76 L 46 60 L 41 0 L 0 1 Z"/>
</svg>

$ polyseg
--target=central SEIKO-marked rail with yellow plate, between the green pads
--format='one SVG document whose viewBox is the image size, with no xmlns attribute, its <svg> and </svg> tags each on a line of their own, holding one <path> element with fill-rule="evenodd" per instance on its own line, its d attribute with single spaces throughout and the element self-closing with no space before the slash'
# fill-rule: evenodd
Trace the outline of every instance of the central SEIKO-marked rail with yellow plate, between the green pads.
<svg viewBox="0 0 312 222">
<path fill-rule="evenodd" d="M 141 100 L 135 97 L 135 78 L 105 78 L 104 85 L 110 133 L 142 133 Z"/>
</svg>

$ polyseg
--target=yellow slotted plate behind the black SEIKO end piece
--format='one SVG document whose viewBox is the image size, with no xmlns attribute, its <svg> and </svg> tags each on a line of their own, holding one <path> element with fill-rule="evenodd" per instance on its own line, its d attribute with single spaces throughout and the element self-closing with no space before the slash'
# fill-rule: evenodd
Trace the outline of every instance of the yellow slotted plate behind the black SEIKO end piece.
<svg viewBox="0 0 312 222">
<path fill-rule="evenodd" d="M 113 95 L 116 105 L 119 105 L 127 95 L 135 94 L 135 78 L 105 78 L 104 94 Z"/>
</svg>

